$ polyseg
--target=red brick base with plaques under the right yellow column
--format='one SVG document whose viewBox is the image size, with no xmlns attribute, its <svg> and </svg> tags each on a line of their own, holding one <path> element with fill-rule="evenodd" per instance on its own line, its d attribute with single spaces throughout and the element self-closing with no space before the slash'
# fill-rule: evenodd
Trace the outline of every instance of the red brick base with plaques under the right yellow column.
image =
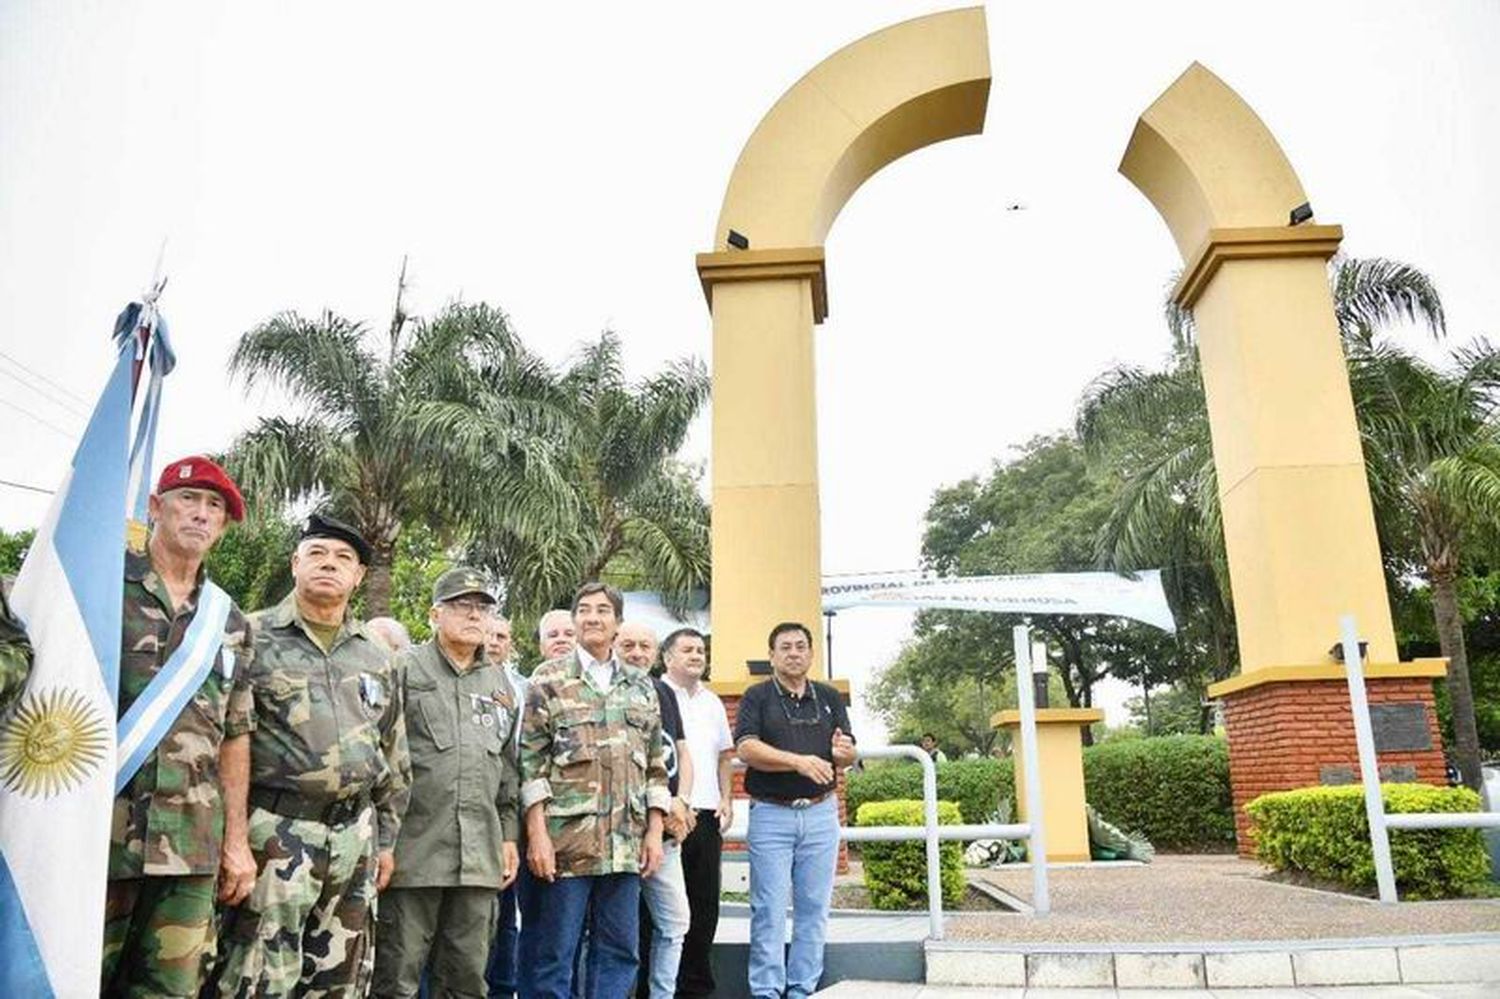
<svg viewBox="0 0 1500 999">
<path fill-rule="evenodd" d="M 1340 670 L 1342 668 L 1338 668 Z M 1311 670 L 1306 670 L 1311 674 Z M 1332 670 L 1320 670 L 1323 674 Z M 1359 783 L 1359 750 L 1354 744 L 1354 717 L 1344 680 L 1306 676 L 1263 681 L 1233 687 L 1234 680 L 1218 684 L 1210 696 L 1224 702 L 1228 729 L 1230 784 L 1234 795 L 1234 843 L 1240 856 L 1256 850 L 1245 804 L 1270 790 L 1292 790 L 1316 784 Z M 1401 738 L 1383 736 L 1377 729 L 1377 759 L 1386 782 L 1446 784 L 1443 736 L 1432 705 L 1431 668 L 1426 675 L 1365 678 L 1371 710 L 1377 705 L 1406 705 L 1407 720 L 1425 716 L 1420 724 L 1407 726 Z M 1374 711 L 1372 711 L 1374 712 Z M 1416 736 L 1416 738 L 1413 738 Z M 1425 748 L 1416 742 L 1424 742 Z M 1400 748 L 1392 748 L 1392 744 Z"/>
</svg>

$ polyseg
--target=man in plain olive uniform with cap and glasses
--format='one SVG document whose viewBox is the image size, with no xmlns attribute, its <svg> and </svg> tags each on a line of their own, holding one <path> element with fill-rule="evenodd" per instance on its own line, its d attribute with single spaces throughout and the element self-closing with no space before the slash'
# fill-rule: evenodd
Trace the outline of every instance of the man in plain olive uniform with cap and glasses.
<svg viewBox="0 0 1500 999">
<path fill-rule="evenodd" d="M 516 876 L 516 702 L 486 652 L 495 597 L 472 568 L 432 588 L 434 638 L 396 660 L 411 798 L 381 896 L 375 994 L 484 994 L 495 892 Z"/>
</svg>

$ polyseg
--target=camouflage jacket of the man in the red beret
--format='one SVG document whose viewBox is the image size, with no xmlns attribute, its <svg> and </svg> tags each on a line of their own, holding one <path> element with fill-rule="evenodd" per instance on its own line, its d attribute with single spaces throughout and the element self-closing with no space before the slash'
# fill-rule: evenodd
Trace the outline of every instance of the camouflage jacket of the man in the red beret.
<svg viewBox="0 0 1500 999">
<path fill-rule="evenodd" d="M 120 648 L 120 717 L 129 711 L 162 664 L 177 651 L 198 609 L 204 573 L 188 602 L 172 612 L 172 600 L 152 560 L 124 554 L 124 628 Z M 114 800 L 110 834 L 110 878 L 142 874 L 213 874 L 224 840 L 224 798 L 219 792 L 219 746 L 226 718 L 244 711 L 250 626 L 238 608 L 224 624 L 224 650 L 198 693 L 177 716 L 156 752 Z M 220 654 L 222 656 L 222 654 Z M 231 675 L 225 680 L 225 668 Z"/>
</svg>

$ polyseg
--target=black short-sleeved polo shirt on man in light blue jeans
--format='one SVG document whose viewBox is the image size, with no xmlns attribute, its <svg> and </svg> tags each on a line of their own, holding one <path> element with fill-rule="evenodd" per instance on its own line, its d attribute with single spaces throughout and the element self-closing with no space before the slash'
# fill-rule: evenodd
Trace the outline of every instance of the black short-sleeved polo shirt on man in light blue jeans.
<svg viewBox="0 0 1500 999">
<path fill-rule="evenodd" d="M 808 680 L 795 696 L 776 676 L 746 690 L 735 716 L 735 746 L 756 738 L 774 748 L 802 756 L 822 756 L 834 762 L 834 729 L 854 738 L 843 696 L 828 684 Z M 795 771 L 772 772 L 750 766 L 746 790 L 753 798 L 816 798 L 834 789 Z"/>
</svg>

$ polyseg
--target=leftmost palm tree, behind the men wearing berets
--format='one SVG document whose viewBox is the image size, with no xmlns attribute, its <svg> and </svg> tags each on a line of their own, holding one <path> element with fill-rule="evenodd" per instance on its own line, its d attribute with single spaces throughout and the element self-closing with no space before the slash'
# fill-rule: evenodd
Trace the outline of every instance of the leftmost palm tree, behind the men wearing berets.
<svg viewBox="0 0 1500 999">
<path fill-rule="evenodd" d="M 303 412 L 262 417 L 230 464 L 256 502 L 310 501 L 346 518 L 374 549 L 366 606 L 384 615 L 404 524 L 454 537 L 504 525 L 530 538 L 566 522 L 573 495 L 558 474 L 555 386 L 501 310 L 452 304 L 408 322 L 398 292 L 384 356 L 372 339 L 332 312 L 285 312 L 244 333 L 231 374 L 246 390 L 285 390 Z"/>
</svg>

